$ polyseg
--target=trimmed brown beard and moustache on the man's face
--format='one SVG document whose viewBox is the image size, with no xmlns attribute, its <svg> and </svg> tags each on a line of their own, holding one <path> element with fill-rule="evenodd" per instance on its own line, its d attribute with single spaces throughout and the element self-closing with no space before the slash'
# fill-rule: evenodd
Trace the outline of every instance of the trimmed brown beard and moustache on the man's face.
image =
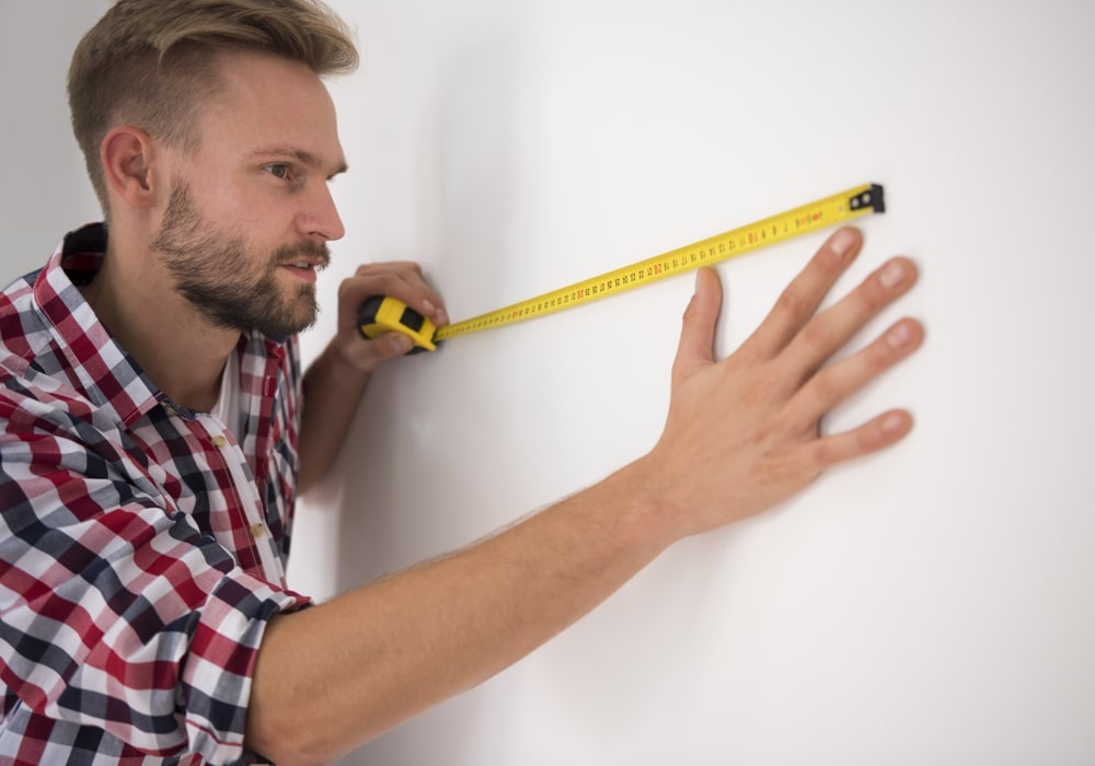
<svg viewBox="0 0 1095 766">
<path fill-rule="evenodd" d="M 215 327 L 284 338 L 315 323 L 315 286 L 300 285 L 296 295 L 285 298 L 277 269 L 300 256 L 320 256 L 326 266 L 331 255 L 325 244 L 278 247 L 256 269 L 246 240 L 215 229 L 194 206 L 189 185 L 180 182 L 150 246 L 180 294 Z"/>
</svg>

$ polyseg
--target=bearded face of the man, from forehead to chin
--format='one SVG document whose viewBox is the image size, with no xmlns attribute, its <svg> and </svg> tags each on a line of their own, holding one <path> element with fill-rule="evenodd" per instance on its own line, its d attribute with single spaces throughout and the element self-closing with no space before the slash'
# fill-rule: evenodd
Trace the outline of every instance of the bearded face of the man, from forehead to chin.
<svg viewBox="0 0 1095 766">
<path fill-rule="evenodd" d="M 311 326 L 326 242 L 343 235 L 327 183 L 345 170 L 334 106 L 301 65 L 224 56 L 151 248 L 212 326 L 275 337 Z"/>
</svg>

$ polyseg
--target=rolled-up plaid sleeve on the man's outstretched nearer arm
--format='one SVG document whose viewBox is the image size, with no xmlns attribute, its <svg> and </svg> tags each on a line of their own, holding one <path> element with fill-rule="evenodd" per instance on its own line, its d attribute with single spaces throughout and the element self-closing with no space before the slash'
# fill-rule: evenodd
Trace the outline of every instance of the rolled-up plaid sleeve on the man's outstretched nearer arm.
<svg viewBox="0 0 1095 766">
<path fill-rule="evenodd" d="M 32 715 L 150 755 L 239 763 L 269 617 L 243 572 L 85 440 L 0 434 L 0 681 Z M 41 726 L 38 727 L 41 729 Z"/>
</svg>

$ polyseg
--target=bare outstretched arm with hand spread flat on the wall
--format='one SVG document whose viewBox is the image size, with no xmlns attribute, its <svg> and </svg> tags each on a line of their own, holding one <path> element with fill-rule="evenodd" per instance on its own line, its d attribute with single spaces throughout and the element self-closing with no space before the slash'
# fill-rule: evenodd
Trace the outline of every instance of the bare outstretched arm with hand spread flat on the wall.
<svg viewBox="0 0 1095 766">
<path fill-rule="evenodd" d="M 673 541 L 760 513 L 829 467 L 900 441 L 912 428 L 900 409 L 820 432 L 826 413 L 923 340 L 904 318 L 826 363 L 917 279 L 895 258 L 817 312 L 860 242 L 855 230 L 834 234 L 721 361 L 717 275 L 698 272 L 666 428 L 646 457 L 462 553 L 275 618 L 258 652 L 249 745 L 295 763 L 343 753 L 523 657 Z"/>
</svg>

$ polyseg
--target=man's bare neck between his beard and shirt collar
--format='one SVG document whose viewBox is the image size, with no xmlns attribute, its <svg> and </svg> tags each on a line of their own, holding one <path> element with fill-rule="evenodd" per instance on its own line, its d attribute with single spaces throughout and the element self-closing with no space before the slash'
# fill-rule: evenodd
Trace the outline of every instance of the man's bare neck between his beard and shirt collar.
<svg viewBox="0 0 1095 766">
<path fill-rule="evenodd" d="M 84 298 L 172 402 L 209 411 L 239 330 L 211 326 L 174 290 L 147 248 L 127 248 L 130 243 L 115 236 L 112 229 L 103 267 L 82 288 Z"/>
</svg>

